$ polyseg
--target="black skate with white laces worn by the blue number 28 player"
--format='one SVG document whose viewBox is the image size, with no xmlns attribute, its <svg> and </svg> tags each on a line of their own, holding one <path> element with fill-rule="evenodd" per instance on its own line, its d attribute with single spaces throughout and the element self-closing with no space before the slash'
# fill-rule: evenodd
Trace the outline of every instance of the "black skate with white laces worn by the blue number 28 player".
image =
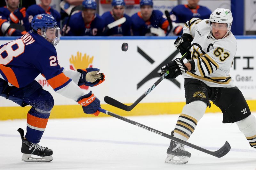
<svg viewBox="0 0 256 170">
<path fill-rule="evenodd" d="M 19 128 L 20 137 L 22 140 L 21 153 L 22 160 L 25 162 L 50 162 L 52 161 L 52 150 L 46 147 L 40 146 L 39 144 L 33 144 L 27 139 L 24 139 L 24 130 Z M 36 156 L 36 157 L 32 157 Z M 41 158 L 38 158 L 41 157 Z"/>
</svg>

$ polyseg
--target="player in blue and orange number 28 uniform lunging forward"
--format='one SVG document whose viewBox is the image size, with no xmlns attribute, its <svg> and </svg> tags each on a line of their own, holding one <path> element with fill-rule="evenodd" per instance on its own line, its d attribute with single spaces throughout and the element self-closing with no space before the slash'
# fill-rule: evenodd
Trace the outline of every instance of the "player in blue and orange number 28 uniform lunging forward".
<svg viewBox="0 0 256 170">
<path fill-rule="evenodd" d="M 55 92 L 81 104 L 84 113 L 98 116 L 100 100 L 92 91 L 85 94 L 79 86 L 99 85 L 105 76 L 99 73 L 99 69 L 74 71 L 60 67 L 54 47 L 60 41 L 60 28 L 51 15 L 36 15 L 31 27 L 32 30 L 25 35 L 1 45 L 0 95 L 22 107 L 32 106 L 27 115 L 25 137 L 23 129 L 18 129 L 22 139 L 22 160 L 49 162 L 53 159 L 52 150 L 38 143 L 46 128 L 54 100 L 35 78 L 42 74 Z M 32 155 L 40 158 L 32 158 Z"/>
</svg>

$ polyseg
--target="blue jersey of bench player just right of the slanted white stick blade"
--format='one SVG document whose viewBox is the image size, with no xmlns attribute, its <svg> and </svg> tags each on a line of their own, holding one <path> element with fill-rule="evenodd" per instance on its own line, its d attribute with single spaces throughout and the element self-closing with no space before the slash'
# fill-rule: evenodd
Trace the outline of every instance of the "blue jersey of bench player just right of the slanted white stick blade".
<svg viewBox="0 0 256 170">
<path fill-rule="evenodd" d="M 147 30 L 151 27 L 162 28 L 167 31 L 169 22 L 163 18 L 163 13 L 158 10 L 153 10 L 152 15 L 148 21 L 142 19 L 141 13 L 137 12 L 132 15 L 132 32 L 133 35 L 145 35 Z"/>
</svg>

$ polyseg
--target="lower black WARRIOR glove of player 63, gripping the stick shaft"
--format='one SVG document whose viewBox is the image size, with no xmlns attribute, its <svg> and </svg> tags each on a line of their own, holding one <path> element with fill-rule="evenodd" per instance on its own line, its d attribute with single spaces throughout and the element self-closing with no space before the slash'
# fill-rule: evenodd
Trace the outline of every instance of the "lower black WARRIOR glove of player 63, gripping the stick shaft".
<svg viewBox="0 0 256 170">
<path fill-rule="evenodd" d="M 188 71 L 188 68 L 185 66 L 182 60 L 180 58 L 176 58 L 173 61 L 168 62 L 166 65 L 164 65 L 161 68 L 160 75 L 162 76 L 166 71 L 169 71 L 168 76 L 166 76 L 166 79 L 169 78 L 176 78 L 181 74 L 185 74 Z"/>
</svg>

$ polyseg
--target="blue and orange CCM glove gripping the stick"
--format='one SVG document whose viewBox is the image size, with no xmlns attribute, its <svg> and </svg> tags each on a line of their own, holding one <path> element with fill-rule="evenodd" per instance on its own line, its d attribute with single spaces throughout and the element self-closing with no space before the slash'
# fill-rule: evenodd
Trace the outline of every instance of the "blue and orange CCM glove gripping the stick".
<svg viewBox="0 0 256 170">
<path fill-rule="evenodd" d="M 98 107 L 100 107 L 100 100 L 94 96 L 92 91 L 81 96 L 76 102 L 82 105 L 85 114 L 92 114 L 95 116 L 100 114 L 100 111 L 98 110 Z"/>
</svg>

